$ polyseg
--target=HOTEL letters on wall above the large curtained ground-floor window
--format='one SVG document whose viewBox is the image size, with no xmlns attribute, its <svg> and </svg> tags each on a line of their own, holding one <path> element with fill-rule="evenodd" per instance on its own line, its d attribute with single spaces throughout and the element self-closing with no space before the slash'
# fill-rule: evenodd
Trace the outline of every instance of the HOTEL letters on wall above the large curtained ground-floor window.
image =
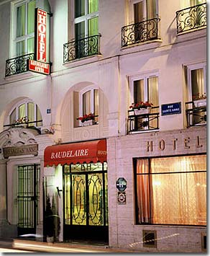
<svg viewBox="0 0 210 256">
<path fill-rule="evenodd" d="M 170 141 L 166 141 L 163 138 L 160 138 L 159 141 L 147 141 L 146 150 L 154 151 L 155 149 L 159 149 L 160 151 L 165 150 L 172 150 L 175 151 L 181 147 L 181 149 L 191 149 L 192 147 L 202 148 L 203 144 L 201 143 L 200 136 L 196 136 L 196 138 L 192 139 L 188 136 L 186 138 L 178 139 L 178 138 L 171 138 Z"/>
</svg>

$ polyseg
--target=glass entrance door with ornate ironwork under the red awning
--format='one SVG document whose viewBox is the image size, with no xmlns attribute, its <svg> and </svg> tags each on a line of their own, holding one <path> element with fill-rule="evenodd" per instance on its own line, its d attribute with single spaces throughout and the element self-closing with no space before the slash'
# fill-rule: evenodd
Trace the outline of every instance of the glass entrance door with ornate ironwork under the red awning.
<svg viewBox="0 0 210 256">
<path fill-rule="evenodd" d="M 64 239 L 108 242 L 106 164 L 65 165 Z"/>
</svg>

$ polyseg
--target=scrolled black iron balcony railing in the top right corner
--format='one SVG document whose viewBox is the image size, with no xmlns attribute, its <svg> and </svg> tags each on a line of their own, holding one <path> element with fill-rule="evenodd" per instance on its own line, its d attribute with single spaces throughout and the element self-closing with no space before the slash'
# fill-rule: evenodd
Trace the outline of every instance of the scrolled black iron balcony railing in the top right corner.
<svg viewBox="0 0 210 256">
<path fill-rule="evenodd" d="M 206 3 L 176 12 L 177 34 L 206 27 Z"/>
</svg>

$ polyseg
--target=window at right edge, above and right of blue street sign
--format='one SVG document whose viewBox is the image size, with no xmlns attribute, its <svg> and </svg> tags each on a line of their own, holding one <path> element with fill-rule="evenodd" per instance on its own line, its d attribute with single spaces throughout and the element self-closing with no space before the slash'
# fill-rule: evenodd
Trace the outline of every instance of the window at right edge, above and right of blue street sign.
<svg viewBox="0 0 210 256">
<path fill-rule="evenodd" d="M 206 95 L 206 63 L 187 67 L 188 100 Z"/>
</svg>

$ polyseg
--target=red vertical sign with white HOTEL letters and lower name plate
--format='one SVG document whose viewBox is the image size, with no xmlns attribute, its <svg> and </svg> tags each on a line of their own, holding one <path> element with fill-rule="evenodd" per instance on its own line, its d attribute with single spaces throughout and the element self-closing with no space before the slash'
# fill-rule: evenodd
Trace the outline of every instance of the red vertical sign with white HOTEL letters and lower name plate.
<svg viewBox="0 0 210 256">
<path fill-rule="evenodd" d="M 35 60 L 28 61 L 29 71 L 50 74 L 47 63 L 47 12 L 35 9 Z"/>
</svg>

